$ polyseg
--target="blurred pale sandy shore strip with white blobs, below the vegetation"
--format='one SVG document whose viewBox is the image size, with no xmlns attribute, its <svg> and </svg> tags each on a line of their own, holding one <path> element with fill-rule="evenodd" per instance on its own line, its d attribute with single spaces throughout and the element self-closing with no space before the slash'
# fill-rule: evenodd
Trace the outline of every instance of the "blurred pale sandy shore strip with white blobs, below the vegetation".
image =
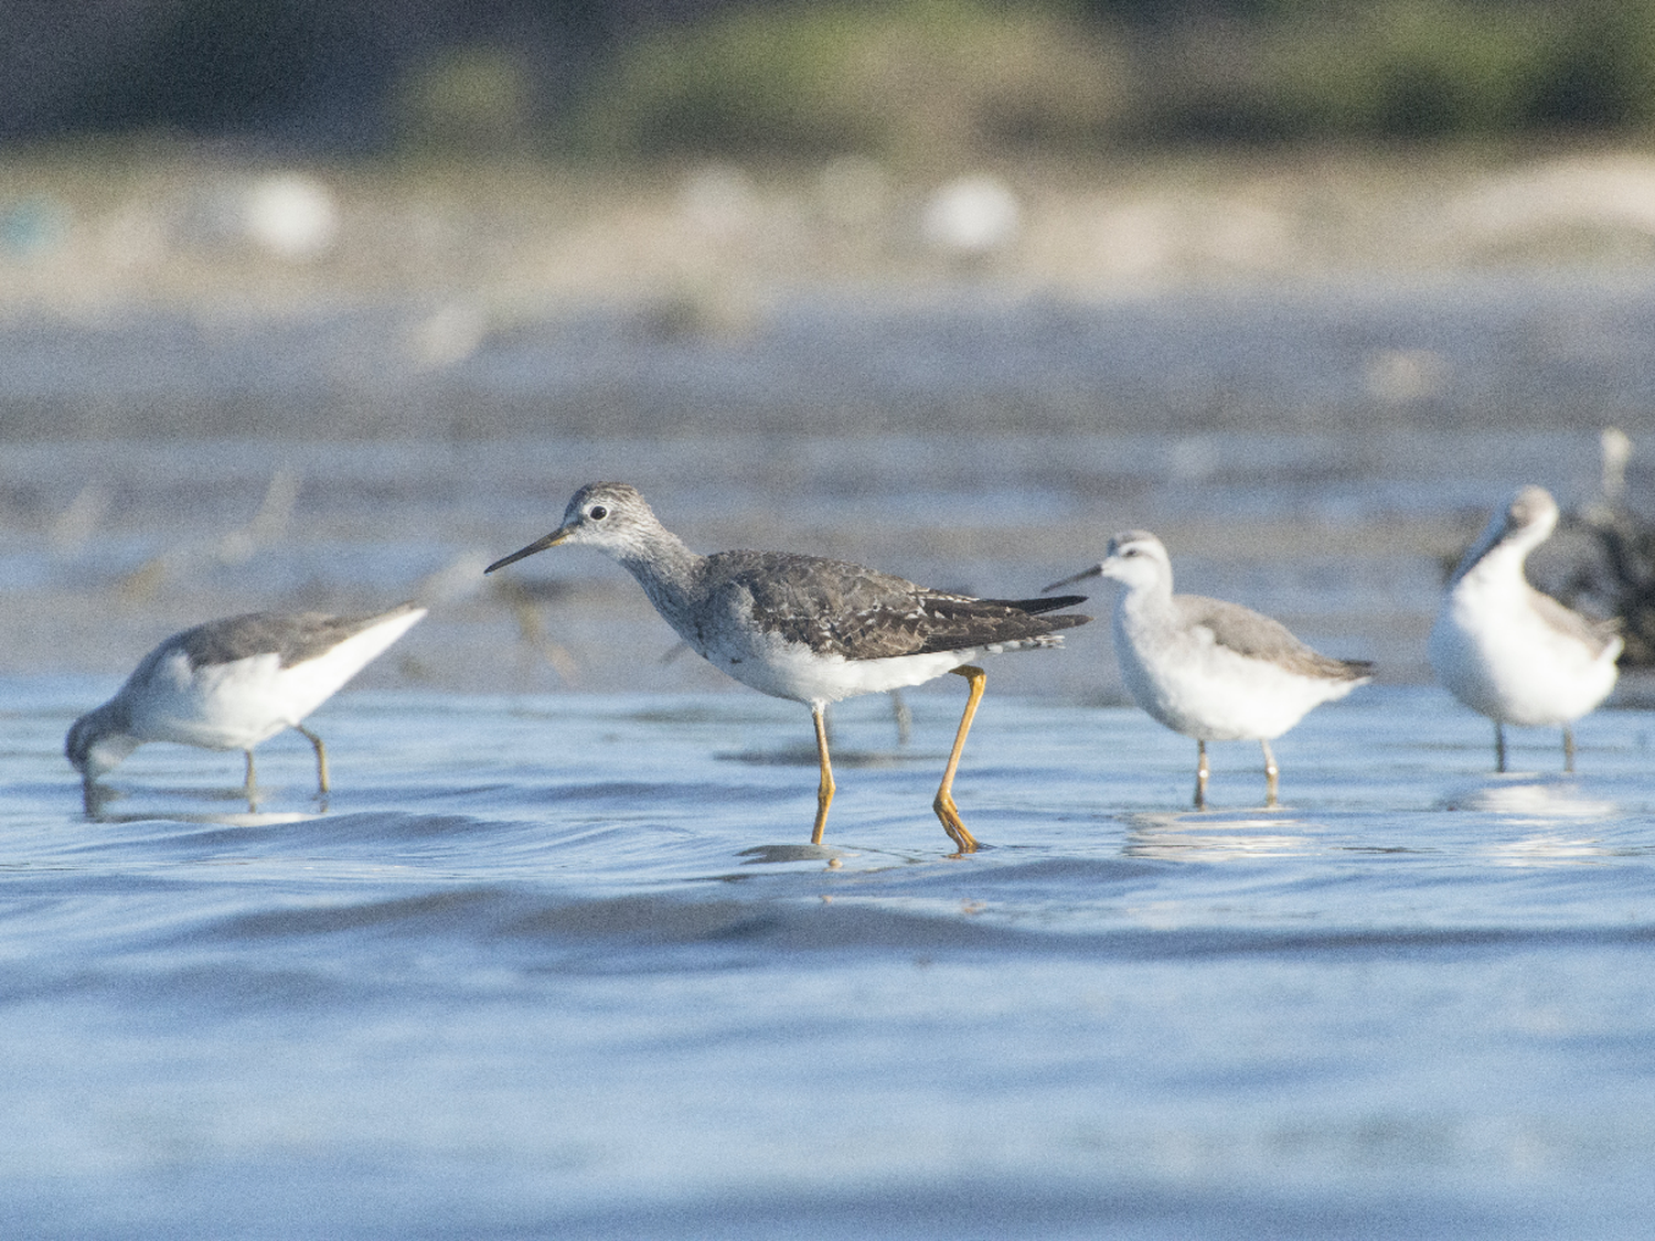
<svg viewBox="0 0 1655 1241">
<path fill-rule="evenodd" d="M 528 318 L 652 304 L 740 333 L 823 288 L 920 301 L 1655 265 L 1655 156 L 1619 147 L 1122 156 L 912 180 L 841 159 L 647 172 L 301 167 L 207 151 L 0 157 L 0 313 L 240 319 L 414 301 L 410 364 Z M 463 316 L 470 323 L 462 323 Z M 415 343 L 419 346 L 420 343 Z"/>
</svg>

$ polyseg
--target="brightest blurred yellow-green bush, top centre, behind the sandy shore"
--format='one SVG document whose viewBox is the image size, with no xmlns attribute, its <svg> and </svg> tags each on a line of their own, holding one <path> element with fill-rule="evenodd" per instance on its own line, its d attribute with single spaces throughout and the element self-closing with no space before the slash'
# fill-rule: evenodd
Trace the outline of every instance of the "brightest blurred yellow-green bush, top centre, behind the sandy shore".
<svg viewBox="0 0 1655 1241">
<path fill-rule="evenodd" d="M 983 0 L 753 7 L 622 48 L 574 119 L 586 149 L 662 156 L 1101 146 L 1127 60 L 1104 26 Z"/>
</svg>

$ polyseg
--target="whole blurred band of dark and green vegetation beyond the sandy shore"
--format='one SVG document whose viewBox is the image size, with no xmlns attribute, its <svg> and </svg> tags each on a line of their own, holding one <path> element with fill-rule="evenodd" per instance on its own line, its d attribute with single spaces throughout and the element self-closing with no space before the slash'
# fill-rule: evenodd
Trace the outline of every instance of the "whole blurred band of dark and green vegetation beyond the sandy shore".
<svg viewBox="0 0 1655 1241">
<path fill-rule="evenodd" d="M 897 165 L 1655 136 L 1655 0 L 0 0 L 0 142 Z"/>
</svg>

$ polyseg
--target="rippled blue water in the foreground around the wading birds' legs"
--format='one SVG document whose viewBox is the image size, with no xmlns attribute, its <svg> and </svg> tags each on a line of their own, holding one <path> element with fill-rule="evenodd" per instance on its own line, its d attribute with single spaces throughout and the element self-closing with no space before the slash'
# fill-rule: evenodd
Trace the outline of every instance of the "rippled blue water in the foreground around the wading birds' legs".
<svg viewBox="0 0 1655 1241">
<path fill-rule="evenodd" d="M 952 678 L 945 678 L 952 680 Z M 0 680 L 0 1234 L 1614 1238 L 1655 1211 L 1655 715 L 1581 773 L 1428 687 L 1278 745 L 963 687 L 344 693 L 61 758 Z M 957 692 L 958 690 L 958 692 Z"/>
</svg>

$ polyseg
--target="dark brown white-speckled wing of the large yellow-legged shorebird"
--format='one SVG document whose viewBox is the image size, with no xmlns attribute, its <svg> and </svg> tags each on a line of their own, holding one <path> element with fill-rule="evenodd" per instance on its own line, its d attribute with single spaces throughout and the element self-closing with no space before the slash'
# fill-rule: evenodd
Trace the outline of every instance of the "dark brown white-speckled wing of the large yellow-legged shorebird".
<svg viewBox="0 0 1655 1241">
<path fill-rule="evenodd" d="M 928 591 L 847 561 L 765 551 L 707 558 L 707 586 L 751 594 L 755 619 L 824 655 L 889 659 L 1039 639 L 1086 616 L 1039 616 L 1077 597 L 1015 602 Z"/>
</svg>

